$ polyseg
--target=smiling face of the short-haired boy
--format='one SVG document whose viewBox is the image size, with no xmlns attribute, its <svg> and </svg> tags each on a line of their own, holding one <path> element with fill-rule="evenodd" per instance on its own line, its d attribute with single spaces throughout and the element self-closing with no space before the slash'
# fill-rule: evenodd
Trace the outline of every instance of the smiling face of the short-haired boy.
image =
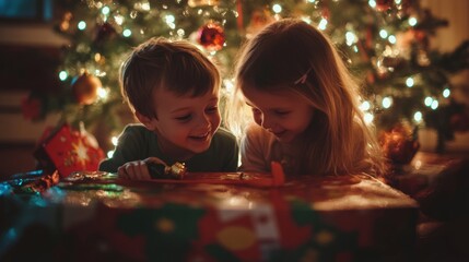
<svg viewBox="0 0 469 262">
<path fill-rule="evenodd" d="M 209 148 L 221 122 L 218 90 L 190 97 L 157 88 L 153 97 L 157 119 L 151 121 L 164 153 L 186 158 Z"/>
</svg>

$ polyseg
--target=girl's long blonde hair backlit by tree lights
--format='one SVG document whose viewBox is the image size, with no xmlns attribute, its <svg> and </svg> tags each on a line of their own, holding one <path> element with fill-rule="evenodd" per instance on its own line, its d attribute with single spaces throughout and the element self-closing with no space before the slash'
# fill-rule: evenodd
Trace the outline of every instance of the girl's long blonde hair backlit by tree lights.
<svg viewBox="0 0 469 262">
<path fill-rule="evenodd" d="M 244 86 L 262 92 L 288 88 L 316 109 L 297 156 L 297 172 L 385 172 L 376 136 L 359 109 L 357 84 L 320 31 L 301 20 L 280 20 L 248 40 L 238 58 L 236 87 L 225 116 L 234 133 L 242 135 L 246 124 Z"/>
</svg>

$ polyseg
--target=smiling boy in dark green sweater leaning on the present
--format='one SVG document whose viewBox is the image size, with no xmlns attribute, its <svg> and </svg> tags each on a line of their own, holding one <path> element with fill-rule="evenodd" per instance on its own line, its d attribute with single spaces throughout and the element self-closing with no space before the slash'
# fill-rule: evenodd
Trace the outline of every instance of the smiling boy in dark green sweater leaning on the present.
<svg viewBox="0 0 469 262">
<path fill-rule="evenodd" d="M 183 162 L 188 171 L 236 171 L 235 136 L 219 128 L 220 73 L 194 45 L 152 38 L 120 70 L 124 98 L 141 124 L 129 124 L 99 170 L 150 179 L 146 163 Z M 161 162 L 160 162 L 161 163 Z"/>
</svg>

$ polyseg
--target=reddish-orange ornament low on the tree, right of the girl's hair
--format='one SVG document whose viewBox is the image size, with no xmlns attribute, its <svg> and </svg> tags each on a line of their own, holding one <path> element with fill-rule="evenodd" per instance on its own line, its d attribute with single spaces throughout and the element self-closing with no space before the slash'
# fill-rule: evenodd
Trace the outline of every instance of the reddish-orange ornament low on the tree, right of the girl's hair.
<svg viewBox="0 0 469 262">
<path fill-rule="evenodd" d="M 385 156 L 395 165 L 409 164 L 420 147 L 415 133 L 406 123 L 399 123 L 382 133 L 379 142 Z"/>
</svg>

